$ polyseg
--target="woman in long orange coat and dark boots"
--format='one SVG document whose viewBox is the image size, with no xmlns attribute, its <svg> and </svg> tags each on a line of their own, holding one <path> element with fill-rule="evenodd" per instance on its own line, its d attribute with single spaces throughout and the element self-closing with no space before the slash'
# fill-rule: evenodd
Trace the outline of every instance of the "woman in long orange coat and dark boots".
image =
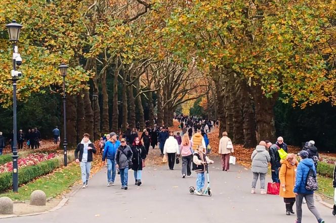
<svg viewBox="0 0 336 223">
<path fill-rule="evenodd" d="M 293 192 L 295 178 L 297 172 L 297 156 L 289 153 L 285 159 L 280 160 L 281 168 L 279 172 L 280 178 L 280 197 L 286 204 L 286 215 L 295 214 L 293 205 L 295 203 L 295 194 Z"/>
</svg>

